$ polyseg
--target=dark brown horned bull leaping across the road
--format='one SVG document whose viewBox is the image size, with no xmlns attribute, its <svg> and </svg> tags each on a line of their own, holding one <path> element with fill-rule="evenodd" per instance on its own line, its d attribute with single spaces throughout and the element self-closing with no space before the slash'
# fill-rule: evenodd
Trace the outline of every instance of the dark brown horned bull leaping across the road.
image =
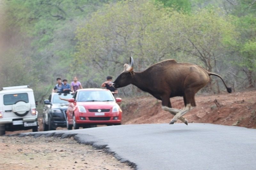
<svg viewBox="0 0 256 170">
<path fill-rule="evenodd" d="M 170 124 L 178 119 L 188 125 L 188 120 L 183 118 L 188 111 L 196 107 L 196 92 L 202 89 L 210 81 L 210 75 L 220 77 L 215 73 L 206 71 L 203 67 L 190 63 L 178 63 L 174 59 L 168 59 L 150 66 L 143 72 L 133 71 L 133 58 L 130 57 L 130 65 L 124 64 L 124 71 L 114 81 L 115 88 L 121 88 L 133 84 L 143 91 L 146 91 L 162 100 L 162 108 L 173 115 Z M 220 77 L 223 81 L 223 79 Z M 231 88 L 227 87 L 228 93 Z M 180 109 L 172 108 L 170 98 L 182 96 L 185 107 Z"/>
</svg>

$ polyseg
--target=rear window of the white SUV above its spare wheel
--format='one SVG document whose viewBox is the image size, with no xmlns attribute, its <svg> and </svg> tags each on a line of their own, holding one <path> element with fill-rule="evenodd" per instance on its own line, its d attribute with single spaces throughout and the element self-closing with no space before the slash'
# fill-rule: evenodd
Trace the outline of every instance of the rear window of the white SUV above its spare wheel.
<svg viewBox="0 0 256 170">
<path fill-rule="evenodd" d="M 17 101 L 24 101 L 28 103 L 28 93 L 17 93 L 4 95 L 4 105 L 15 104 Z"/>
</svg>

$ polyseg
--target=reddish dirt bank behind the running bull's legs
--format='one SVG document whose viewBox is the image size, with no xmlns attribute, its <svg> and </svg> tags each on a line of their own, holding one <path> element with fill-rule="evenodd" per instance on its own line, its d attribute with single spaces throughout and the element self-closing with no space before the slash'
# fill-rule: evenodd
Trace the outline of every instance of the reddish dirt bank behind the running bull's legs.
<svg viewBox="0 0 256 170">
<path fill-rule="evenodd" d="M 256 128 L 256 90 L 196 95 L 195 99 L 196 108 L 184 115 L 188 123 Z M 184 107 L 183 97 L 173 97 L 171 103 L 173 108 Z M 123 99 L 123 124 L 169 123 L 173 115 L 161 106 L 152 96 Z"/>
</svg>

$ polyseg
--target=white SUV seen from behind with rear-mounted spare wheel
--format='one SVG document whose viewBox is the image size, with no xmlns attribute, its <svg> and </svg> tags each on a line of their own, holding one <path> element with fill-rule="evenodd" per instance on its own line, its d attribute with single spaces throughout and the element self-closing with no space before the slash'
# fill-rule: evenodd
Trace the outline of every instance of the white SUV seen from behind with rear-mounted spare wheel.
<svg viewBox="0 0 256 170">
<path fill-rule="evenodd" d="M 36 103 L 29 86 L 3 87 L 0 91 L 0 135 L 7 131 L 38 131 Z"/>
</svg>

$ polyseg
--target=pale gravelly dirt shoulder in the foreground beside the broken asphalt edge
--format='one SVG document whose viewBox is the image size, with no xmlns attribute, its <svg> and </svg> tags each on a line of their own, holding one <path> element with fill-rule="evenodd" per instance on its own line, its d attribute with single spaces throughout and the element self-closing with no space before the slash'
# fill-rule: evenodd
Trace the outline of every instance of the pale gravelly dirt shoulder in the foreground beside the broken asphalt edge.
<svg viewBox="0 0 256 170">
<path fill-rule="evenodd" d="M 0 136 L 0 155 L 0 169 L 134 169 L 73 138 Z"/>
</svg>

